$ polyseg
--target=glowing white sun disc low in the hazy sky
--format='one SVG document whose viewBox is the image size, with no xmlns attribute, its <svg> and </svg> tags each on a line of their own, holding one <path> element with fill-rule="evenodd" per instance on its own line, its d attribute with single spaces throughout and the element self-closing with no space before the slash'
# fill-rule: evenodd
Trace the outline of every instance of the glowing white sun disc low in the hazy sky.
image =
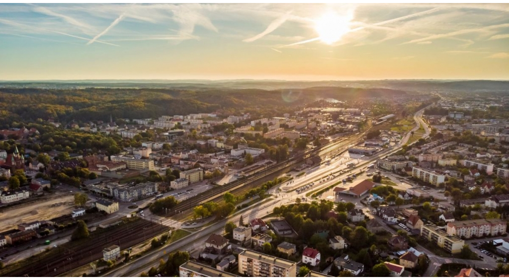
<svg viewBox="0 0 509 280">
<path fill-rule="evenodd" d="M 329 45 L 340 41 L 343 35 L 350 32 L 350 20 L 351 17 L 340 16 L 332 11 L 315 19 L 315 30 L 320 41 Z"/>
</svg>

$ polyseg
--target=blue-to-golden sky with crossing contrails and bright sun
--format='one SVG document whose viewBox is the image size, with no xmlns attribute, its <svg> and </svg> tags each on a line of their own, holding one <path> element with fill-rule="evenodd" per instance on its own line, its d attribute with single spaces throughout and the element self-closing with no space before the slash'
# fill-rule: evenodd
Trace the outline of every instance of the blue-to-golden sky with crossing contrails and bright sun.
<svg viewBox="0 0 509 280">
<path fill-rule="evenodd" d="M 509 79 L 509 4 L 0 4 L 0 80 Z"/>
</svg>

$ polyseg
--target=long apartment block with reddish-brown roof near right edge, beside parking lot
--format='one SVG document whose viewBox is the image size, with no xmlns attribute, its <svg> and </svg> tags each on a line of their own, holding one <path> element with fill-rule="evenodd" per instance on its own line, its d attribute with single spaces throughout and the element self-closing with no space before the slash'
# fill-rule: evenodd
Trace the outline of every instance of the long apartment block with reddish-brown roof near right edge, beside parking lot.
<svg viewBox="0 0 509 280">
<path fill-rule="evenodd" d="M 447 224 L 447 234 L 464 238 L 505 234 L 506 222 L 501 219 L 478 219 Z"/>
</svg>

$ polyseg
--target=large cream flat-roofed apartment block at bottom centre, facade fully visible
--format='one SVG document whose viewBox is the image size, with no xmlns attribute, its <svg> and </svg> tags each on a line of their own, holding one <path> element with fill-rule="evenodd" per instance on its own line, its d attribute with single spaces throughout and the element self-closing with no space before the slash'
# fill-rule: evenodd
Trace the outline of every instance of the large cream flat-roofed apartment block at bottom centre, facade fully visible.
<svg viewBox="0 0 509 280">
<path fill-rule="evenodd" d="M 296 277 L 297 264 L 245 250 L 239 254 L 239 273 L 249 277 Z"/>
</svg>

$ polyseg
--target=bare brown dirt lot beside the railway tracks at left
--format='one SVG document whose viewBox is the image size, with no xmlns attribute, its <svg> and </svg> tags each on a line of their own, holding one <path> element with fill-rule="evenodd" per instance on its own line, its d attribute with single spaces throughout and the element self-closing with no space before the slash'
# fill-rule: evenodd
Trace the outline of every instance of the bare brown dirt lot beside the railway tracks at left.
<svg viewBox="0 0 509 280">
<path fill-rule="evenodd" d="M 69 214 L 73 209 L 74 196 L 71 194 L 8 207 L 0 213 L 0 232 L 14 229 L 21 223 L 51 220 Z"/>
</svg>

